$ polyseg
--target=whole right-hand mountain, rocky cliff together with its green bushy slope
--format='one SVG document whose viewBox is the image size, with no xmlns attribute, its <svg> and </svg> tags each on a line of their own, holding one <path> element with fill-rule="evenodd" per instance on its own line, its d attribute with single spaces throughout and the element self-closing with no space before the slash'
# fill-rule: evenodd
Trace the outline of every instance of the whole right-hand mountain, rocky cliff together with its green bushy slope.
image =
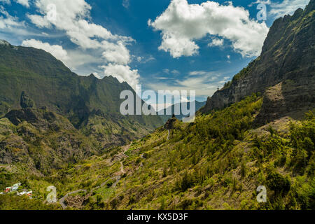
<svg viewBox="0 0 315 224">
<path fill-rule="evenodd" d="M 276 20 L 262 55 L 209 98 L 194 123 L 171 118 L 120 148 L 112 162 L 98 157 L 68 169 L 63 195 L 104 185 L 90 195 L 68 197 L 67 204 L 76 209 L 314 209 L 312 5 Z M 257 201 L 258 186 L 267 190 L 266 203 Z"/>
</svg>

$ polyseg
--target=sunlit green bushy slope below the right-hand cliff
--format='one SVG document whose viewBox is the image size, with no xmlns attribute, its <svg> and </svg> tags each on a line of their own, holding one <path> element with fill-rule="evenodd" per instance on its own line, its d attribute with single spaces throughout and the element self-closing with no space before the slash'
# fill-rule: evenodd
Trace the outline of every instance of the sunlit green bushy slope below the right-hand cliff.
<svg viewBox="0 0 315 224">
<path fill-rule="evenodd" d="M 115 188 L 77 195 L 84 198 L 80 209 L 314 209 L 314 113 L 252 130 L 261 104 L 253 95 L 195 123 L 176 122 L 169 141 L 162 128 L 134 141 L 123 160 L 126 174 L 109 160 L 122 151 L 115 148 L 40 179 L 37 189 L 53 184 L 62 197 L 120 174 Z M 261 185 L 266 204 L 255 199 Z"/>
</svg>

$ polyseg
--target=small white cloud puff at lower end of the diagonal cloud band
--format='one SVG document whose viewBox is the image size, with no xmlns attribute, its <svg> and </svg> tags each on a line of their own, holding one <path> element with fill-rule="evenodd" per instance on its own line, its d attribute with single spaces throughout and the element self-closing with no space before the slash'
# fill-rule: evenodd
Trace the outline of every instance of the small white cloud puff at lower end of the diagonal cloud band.
<svg viewBox="0 0 315 224">
<path fill-rule="evenodd" d="M 105 76 L 114 76 L 120 82 L 126 81 L 131 87 L 136 89 L 136 85 L 139 83 L 140 75 L 137 69 L 130 69 L 130 66 L 122 64 L 108 64 L 101 66 L 104 69 Z"/>
</svg>

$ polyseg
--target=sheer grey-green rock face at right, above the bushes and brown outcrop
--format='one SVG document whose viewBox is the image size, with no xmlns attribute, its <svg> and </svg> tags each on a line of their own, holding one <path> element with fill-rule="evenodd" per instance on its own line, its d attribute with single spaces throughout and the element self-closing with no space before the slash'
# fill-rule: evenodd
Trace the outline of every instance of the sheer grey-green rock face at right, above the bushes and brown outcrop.
<svg viewBox="0 0 315 224">
<path fill-rule="evenodd" d="M 304 94 L 300 106 L 309 106 L 314 102 L 314 55 L 315 55 L 315 1 L 302 10 L 297 9 L 294 15 L 286 15 L 274 21 L 265 40 L 260 57 L 253 60 L 240 71 L 223 89 L 218 90 L 207 100 L 202 113 L 239 102 L 253 93 L 265 93 L 269 87 L 285 80 L 295 83 L 295 95 Z M 290 97 L 283 97 L 288 103 Z M 290 109 L 286 110 L 290 111 Z"/>
</svg>

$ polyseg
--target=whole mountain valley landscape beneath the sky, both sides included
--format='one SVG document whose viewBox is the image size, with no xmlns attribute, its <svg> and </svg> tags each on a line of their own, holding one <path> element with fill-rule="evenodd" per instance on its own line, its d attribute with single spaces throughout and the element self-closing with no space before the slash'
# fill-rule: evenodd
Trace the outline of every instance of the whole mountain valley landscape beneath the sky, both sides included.
<svg viewBox="0 0 315 224">
<path fill-rule="evenodd" d="M 314 209 L 314 17 L 311 0 L 276 20 L 260 57 L 193 123 L 164 126 L 120 116 L 127 83 L 0 41 L 0 189 L 33 190 L 0 195 L 0 209 Z M 59 202 L 43 203 L 48 186 Z"/>
</svg>

